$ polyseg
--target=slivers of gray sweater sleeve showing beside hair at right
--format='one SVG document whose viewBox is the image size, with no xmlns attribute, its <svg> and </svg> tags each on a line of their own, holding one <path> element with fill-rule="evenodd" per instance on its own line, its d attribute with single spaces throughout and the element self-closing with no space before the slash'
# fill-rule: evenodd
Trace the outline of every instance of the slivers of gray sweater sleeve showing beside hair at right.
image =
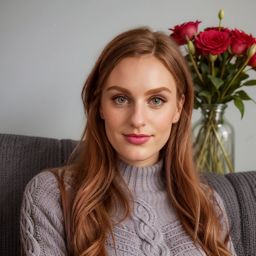
<svg viewBox="0 0 256 256">
<path fill-rule="evenodd" d="M 228 221 L 227 213 L 226 213 L 226 210 L 225 210 L 225 206 L 224 206 L 224 203 L 223 203 L 220 195 L 216 192 L 215 189 L 213 189 L 213 192 L 214 192 L 215 198 L 217 199 L 218 203 L 220 204 L 220 207 L 224 211 L 224 215 L 225 215 L 226 220 Z M 220 208 L 218 207 L 218 205 L 216 203 L 215 203 L 215 208 L 216 208 L 216 211 L 217 211 L 217 214 L 218 214 L 219 218 L 221 219 L 221 224 L 222 224 L 222 227 L 223 227 L 223 236 L 225 237 L 227 235 L 227 226 L 226 226 L 225 219 L 223 217 L 223 214 L 222 214 Z M 229 235 L 229 240 L 228 240 L 227 247 L 230 250 L 232 256 L 237 256 L 230 235 Z"/>
</svg>

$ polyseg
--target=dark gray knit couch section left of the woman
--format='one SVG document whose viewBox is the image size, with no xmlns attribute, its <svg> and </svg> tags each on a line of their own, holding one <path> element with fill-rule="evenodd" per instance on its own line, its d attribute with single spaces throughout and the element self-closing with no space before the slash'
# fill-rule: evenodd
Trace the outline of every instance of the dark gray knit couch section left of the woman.
<svg viewBox="0 0 256 256">
<path fill-rule="evenodd" d="M 28 182 L 43 169 L 61 166 L 77 141 L 0 134 L 0 255 L 20 255 L 20 207 Z"/>
</svg>

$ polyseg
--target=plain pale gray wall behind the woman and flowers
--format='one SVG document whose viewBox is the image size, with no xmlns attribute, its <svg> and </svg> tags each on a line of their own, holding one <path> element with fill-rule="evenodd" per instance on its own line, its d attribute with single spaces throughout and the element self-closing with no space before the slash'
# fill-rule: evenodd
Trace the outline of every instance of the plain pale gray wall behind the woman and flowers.
<svg viewBox="0 0 256 256">
<path fill-rule="evenodd" d="M 202 21 L 256 37 L 256 1 L 27 1 L 0 0 L 0 133 L 81 138 L 86 119 L 81 90 L 104 46 L 139 25 L 154 31 Z M 256 72 L 249 71 L 249 79 Z M 256 86 L 243 87 L 256 100 Z M 235 171 L 256 170 L 256 104 L 233 101 L 225 116 L 235 128 Z M 192 122 L 201 116 L 194 110 Z"/>
</svg>

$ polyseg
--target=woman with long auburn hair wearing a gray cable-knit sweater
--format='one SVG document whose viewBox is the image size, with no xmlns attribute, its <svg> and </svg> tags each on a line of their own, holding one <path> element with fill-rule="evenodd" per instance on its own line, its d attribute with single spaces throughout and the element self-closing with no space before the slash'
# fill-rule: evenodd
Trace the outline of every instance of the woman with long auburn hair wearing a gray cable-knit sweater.
<svg viewBox="0 0 256 256">
<path fill-rule="evenodd" d="M 171 37 L 120 33 L 82 99 L 87 123 L 67 165 L 24 192 L 25 255 L 236 255 L 223 202 L 193 162 L 193 81 Z"/>
</svg>

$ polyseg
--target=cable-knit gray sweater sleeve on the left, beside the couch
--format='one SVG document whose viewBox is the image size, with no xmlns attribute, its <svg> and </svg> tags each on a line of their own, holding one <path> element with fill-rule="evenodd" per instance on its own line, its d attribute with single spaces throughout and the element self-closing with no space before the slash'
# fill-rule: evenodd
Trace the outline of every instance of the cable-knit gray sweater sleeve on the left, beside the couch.
<svg viewBox="0 0 256 256">
<path fill-rule="evenodd" d="M 39 173 L 27 184 L 20 212 L 23 255 L 64 256 L 64 218 L 58 181 L 50 171 Z"/>
</svg>

